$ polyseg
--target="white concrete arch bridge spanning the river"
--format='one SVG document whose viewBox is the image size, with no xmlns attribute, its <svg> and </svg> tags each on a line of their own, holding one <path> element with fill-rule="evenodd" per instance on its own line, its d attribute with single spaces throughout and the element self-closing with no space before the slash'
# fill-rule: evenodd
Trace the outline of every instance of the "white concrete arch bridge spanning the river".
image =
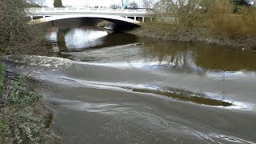
<svg viewBox="0 0 256 144">
<path fill-rule="evenodd" d="M 102 8 L 30 8 L 31 23 L 52 22 L 67 18 L 100 18 L 118 24 L 140 26 L 141 22 L 152 21 L 149 10 L 121 10 Z M 37 18 L 37 19 L 35 19 Z"/>
</svg>

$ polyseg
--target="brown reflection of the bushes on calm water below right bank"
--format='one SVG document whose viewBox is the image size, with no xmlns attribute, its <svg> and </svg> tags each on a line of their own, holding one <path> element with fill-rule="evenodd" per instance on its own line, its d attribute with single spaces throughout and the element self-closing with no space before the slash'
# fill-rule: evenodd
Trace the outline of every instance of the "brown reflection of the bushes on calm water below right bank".
<svg viewBox="0 0 256 144">
<path fill-rule="evenodd" d="M 166 62 L 181 71 L 238 71 L 256 70 L 256 54 L 230 50 L 225 46 L 181 42 L 142 41 L 144 54 L 154 54 L 158 62 Z M 150 52 L 151 51 L 151 52 Z"/>
</svg>

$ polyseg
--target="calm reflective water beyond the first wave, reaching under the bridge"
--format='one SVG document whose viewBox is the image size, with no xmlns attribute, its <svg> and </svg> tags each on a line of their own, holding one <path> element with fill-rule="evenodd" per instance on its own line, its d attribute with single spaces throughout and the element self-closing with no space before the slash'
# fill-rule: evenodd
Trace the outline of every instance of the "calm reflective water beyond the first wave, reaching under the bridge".
<svg viewBox="0 0 256 144">
<path fill-rule="evenodd" d="M 81 51 L 88 48 L 114 46 L 105 48 L 105 50 L 86 51 L 86 54 L 70 56 L 77 61 L 86 59 L 86 61 L 98 62 L 99 58 L 102 58 L 100 62 L 103 63 L 115 61 L 122 63 L 120 59 L 123 59 L 130 65 L 142 63 L 144 67 L 146 65 L 149 68 L 158 66 L 158 68 L 168 68 L 186 73 L 205 74 L 206 70 L 210 70 L 210 72 L 230 71 L 229 76 L 232 74 L 236 76 L 237 71 L 246 73 L 248 70 L 256 70 L 254 53 L 230 50 L 225 46 L 138 40 L 131 34 L 107 34 L 106 31 L 86 27 L 70 29 L 54 27 L 47 38 L 57 44 L 54 49 L 58 49 L 58 51 Z M 122 46 L 135 42 L 141 42 L 142 45 Z M 123 50 L 122 47 L 126 47 L 126 50 Z M 102 55 L 105 52 L 110 56 Z M 92 57 L 89 58 L 90 55 Z"/>
</svg>

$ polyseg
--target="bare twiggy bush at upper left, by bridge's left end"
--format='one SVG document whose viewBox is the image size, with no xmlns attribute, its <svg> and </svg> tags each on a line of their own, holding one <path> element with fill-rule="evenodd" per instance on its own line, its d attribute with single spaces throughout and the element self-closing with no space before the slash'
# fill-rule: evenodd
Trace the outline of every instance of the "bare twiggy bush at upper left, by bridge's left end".
<svg viewBox="0 0 256 144">
<path fill-rule="evenodd" d="M 27 2 L 21 0 L 0 1 L 0 56 L 41 52 L 45 30 L 28 24 L 26 7 Z"/>
</svg>

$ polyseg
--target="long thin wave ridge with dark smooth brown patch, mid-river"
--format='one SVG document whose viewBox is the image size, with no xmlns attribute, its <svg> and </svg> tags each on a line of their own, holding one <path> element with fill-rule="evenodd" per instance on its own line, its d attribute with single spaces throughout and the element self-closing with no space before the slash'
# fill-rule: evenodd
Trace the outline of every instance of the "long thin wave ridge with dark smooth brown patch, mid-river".
<svg viewBox="0 0 256 144">
<path fill-rule="evenodd" d="M 176 88 L 160 88 L 157 86 L 144 86 L 127 84 L 120 82 L 95 82 L 95 81 L 79 81 L 73 78 L 64 78 L 62 80 L 67 82 L 78 82 L 83 86 L 89 86 L 94 88 L 108 89 L 108 90 L 125 90 L 138 93 L 146 94 L 157 94 L 166 96 L 169 98 L 174 98 L 184 102 L 194 102 L 198 104 L 208 105 L 208 106 L 233 106 L 230 102 L 225 102 L 221 99 L 207 98 L 206 94 L 197 94 L 188 90 L 180 90 Z"/>
</svg>

